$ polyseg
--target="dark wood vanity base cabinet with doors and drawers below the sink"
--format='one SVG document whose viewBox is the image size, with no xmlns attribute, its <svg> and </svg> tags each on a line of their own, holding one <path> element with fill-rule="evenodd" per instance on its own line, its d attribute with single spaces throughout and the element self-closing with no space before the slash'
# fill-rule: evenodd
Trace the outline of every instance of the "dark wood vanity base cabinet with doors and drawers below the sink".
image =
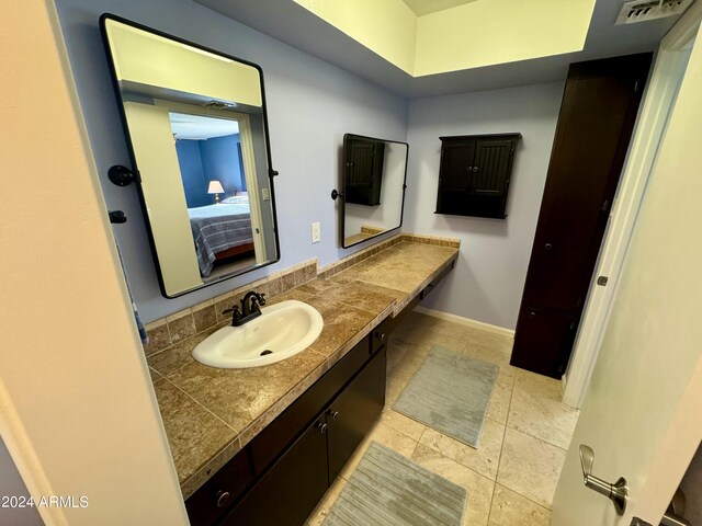
<svg viewBox="0 0 702 526">
<path fill-rule="evenodd" d="M 304 524 L 383 411 L 388 321 L 188 499 L 191 524 Z"/>
</svg>

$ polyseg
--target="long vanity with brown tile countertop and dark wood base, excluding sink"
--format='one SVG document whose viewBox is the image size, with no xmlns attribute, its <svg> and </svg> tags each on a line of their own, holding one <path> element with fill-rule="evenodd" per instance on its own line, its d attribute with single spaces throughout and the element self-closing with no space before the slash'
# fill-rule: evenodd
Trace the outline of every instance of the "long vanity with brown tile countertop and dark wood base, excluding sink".
<svg viewBox="0 0 702 526">
<path fill-rule="evenodd" d="M 271 298 L 324 318 L 290 359 L 206 367 L 190 352 L 207 333 L 148 358 L 192 524 L 304 523 L 384 408 L 389 332 L 455 264 L 451 243 L 412 239 Z"/>
</svg>

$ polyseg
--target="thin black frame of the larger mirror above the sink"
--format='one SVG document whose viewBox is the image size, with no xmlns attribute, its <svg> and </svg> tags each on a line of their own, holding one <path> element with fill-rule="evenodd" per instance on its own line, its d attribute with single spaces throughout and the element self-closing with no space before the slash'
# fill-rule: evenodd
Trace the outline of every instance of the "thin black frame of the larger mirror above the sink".
<svg viewBox="0 0 702 526">
<path fill-rule="evenodd" d="M 146 204 L 146 198 L 144 195 L 144 191 L 141 187 L 141 175 L 139 173 L 139 169 L 138 169 L 138 164 L 136 162 L 136 155 L 135 155 L 135 149 L 134 149 L 134 145 L 133 145 L 133 139 L 132 139 L 132 134 L 129 132 L 129 126 L 127 123 L 127 116 L 126 116 L 126 111 L 124 107 L 124 99 L 122 96 L 122 90 L 120 89 L 120 79 L 117 78 L 117 69 L 115 68 L 115 64 L 114 64 L 114 59 L 113 59 L 113 49 L 110 46 L 110 39 L 107 37 L 107 30 L 106 30 L 106 22 L 111 20 L 114 22 L 118 22 L 121 24 L 125 24 L 128 25 L 131 27 L 144 31 L 146 33 L 150 33 L 154 34 L 156 36 L 160 36 L 162 38 L 167 38 L 169 41 L 173 41 L 178 44 L 184 44 L 186 46 L 191 46 L 194 47 L 196 49 L 200 49 L 202 52 L 206 52 L 213 55 L 217 55 L 224 58 L 227 58 L 229 60 L 234 60 L 240 64 L 244 64 L 246 66 L 250 66 L 252 68 L 254 68 L 258 72 L 259 72 L 259 80 L 260 80 L 260 89 L 261 89 L 261 117 L 263 119 L 263 139 L 265 141 L 265 160 L 267 160 L 267 167 L 265 169 L 268 170 L 268 178 L 270 181 L 270 195 L 271 195 L 271 209 L 272 209 L 272 215 L 273 215 L 273 235 L 275 238 L 275 259 L 274 260 L 270 260 L 267 263 L 260 263 L 260 264 L 254 264 L 251 265 L 249 267 L 246 267 L 244 270 L 240 271 L 236 271 L 233 272 L 231 274 L 222 276 L 220 279 L 214 279 L 210 283 L 205 283 L 203 282 L 203 284 L 201 286 L 194 287 L 194 288 L 190 288 L 188 290 L 181 291 L 181 293 L 177 293 L 177 294 L 168 294 L 167 289 L 166 289 L 166 284 L 163 282 L 163 275 L 161 272 L 161 265 L 160 265 L 160 261 L 159 261 L 159 256 L 158 256 L 158 252 L 156 250 L 156 240 L 154 238 L 154 231 L 151 229 L 151 224 L 149 221 L 149 216 L 148 216 L 148 210 L 147 210 L 147 204 Z M 226 53 L 222 53 L 219 50 L 216 49 L 212 49 L 210 47 L 206 46 L 202 46 L 200 44 L 195 44 L 193 42 L 186 41 L 184 38 L 180 38 L 178 36 L 168 34 L 168 33 L 163 33 L 161 31 L 155 30 L 152 27 L 148 27 L 146 25 L 139 24 L 137 22 L 124 19 L 122 16 L 118 16 L 116 14 L 112 14 L 112 13 L 103 13 L 100 16 L 100 33 L 102 36 L 102 43 L 105 49 L 105 55 L 107 58 L 107 64 L 110 66 L 110 78 L 112 79 L 112 87 L 114 89 L 114 94 L 116 98 L 116 103 L 118 106 L 118 112 L 120 112 L 120 119 L 122 122 L 122 130 L 124 133 L 124 138 L 127 145 L 127 150 L 129 152 L 129 161 L 132 163 L 132 169 L 133 169 L 133 173 L 135 173 L 135 182 L 136 182 L 136 186 L 138 190 L 138 195 L 139 195 L 139 204 L 141 207 L 141 216 L 143 216 L 143 220 L 145 222 L 146 226 L 146 231 L 148 235 L 148 239 L 149 239 L 149 248 L 151 250 L 151 258 L 154 259 L 154 266 L 156 270 L 156 274 L 158 277 L 158 285 L 161 291 L 161 295 L 165 298 L 178 298 L 180 296 L 184 296 L 186 294 L 193 293 L 195 290 L 201 290 L 202 288 L 205 287 L 210 287 L 212 285 L 217 285 L 220 284 L 227 279 L 231 279 L 234 277 L 238 277 L 241 276 L 244 274 L 247 274 L 249 272 L 252 271 L 257 271 L 259 268 L 262 268 L 264 266 L 268 265 L 272 265 L 274 263 L 278 263 L 281 260 L 281 245 L 280 245 L 280 239 L 279 239 L 279 227 L 278 227 L 278 210 L 276 210 L 276 206 L 275 206 L 275 185 L 274 185 L 274 181 L 273 179 L 278 175 L 278 171 L 273 170 L 273 164 L 272 164 L 272 159 L 271 159 L 271 140 L 270 140 L 270 135 L 269 135 L 269 122 L 268 122 L 268 110 L 267 110 L 267 104 L 265 104 L 265 87 L 264 87 L 264 82 L 263 82 L 263 70 L 261 69 L 261 67 L 258 64 L 253 64 L 250 62 L 249 60 L 244 60 L 241 58 L 235 57 L 233 55 L 228 55 Z M 257 195 L 257 198 L 259 198 L 259 196 Z M 193 250 L 195 250 L 193 248 Z"/>
</svg>

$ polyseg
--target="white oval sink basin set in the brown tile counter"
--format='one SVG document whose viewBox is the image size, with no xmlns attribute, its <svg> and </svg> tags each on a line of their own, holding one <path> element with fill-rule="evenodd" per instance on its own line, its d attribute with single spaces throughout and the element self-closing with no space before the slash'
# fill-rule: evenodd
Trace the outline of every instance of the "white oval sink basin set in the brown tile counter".
<svg viewBox="0 0 702 526">
<path fill-rule="evenodd" d="M 312 345 L 322 327 L 321 315 L 314 307 L 282 301 L 261 308 L 261 316 L 244 325 L 219 329 L 193 350 L 193 358 L 225 369 L 274 364 Z"/>
</svg>

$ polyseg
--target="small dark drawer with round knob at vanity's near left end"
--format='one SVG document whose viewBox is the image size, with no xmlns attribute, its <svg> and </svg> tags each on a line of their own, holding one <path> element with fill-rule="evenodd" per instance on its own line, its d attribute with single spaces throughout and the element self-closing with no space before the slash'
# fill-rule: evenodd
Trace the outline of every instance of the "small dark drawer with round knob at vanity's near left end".
<svg viewBox="0 0 702 526">
<path fill-rule="evenodd" d="M 252 481 L 251 456 L 245 448 L 185 501 L 190 524 L 212 524 Z"/>
</svg>

